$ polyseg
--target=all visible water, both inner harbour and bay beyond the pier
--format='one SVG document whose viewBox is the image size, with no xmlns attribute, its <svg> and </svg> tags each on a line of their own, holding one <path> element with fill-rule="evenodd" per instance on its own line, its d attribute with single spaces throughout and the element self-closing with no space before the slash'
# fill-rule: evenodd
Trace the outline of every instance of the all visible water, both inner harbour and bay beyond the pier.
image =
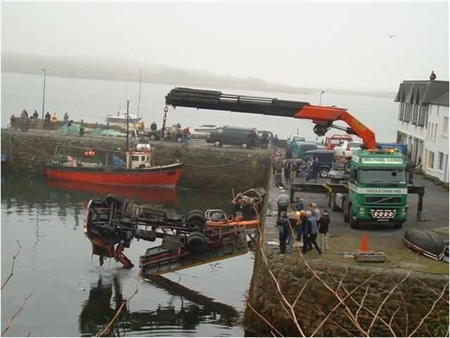
<svg viewBox="0 0 450 338">
<path fill-rule="evenodd" d="M 176 86 L 142 84 L 141 116 L 149 124 L 162 123 L 165 95 Z M 180 86 L 183 87 L 183 86 Z M 217 88 L 220 89 L 220 88 Z M 318 104 L 319 94 L 283 94 L 221 89 L 229 94 L 278 97 Z M 12 113 L 29 113 L 42 105 L 42 77 L 1 73 L 1 127 Z M 116 113 L 131 100 L 136 113 L 137 82 L 47 77 L 46 111 L 62 118 L 104 123 L 105 115 Z M 323 105 L 349 108 L 377 134 L 379 141 L 392 142 L 397 116 L 392 99 L 324 94 Z M 309 121 L 219 111 L 170 109 L 167 123 L 195 127 L 201 124 L 242 125 L 271 130 L 281 138 L 290 134 L 315 139 Z M 106 189 L 108 190 L 108 189 Z M 192 208 L 231 207 L 231 192 L 118 191 L 117 194 L 186 213 Z M 28 294 L 33 296 L 13 321 L 7 336 L 92 336 L 108 323 L 122 298 L 134 292 L 137 268 L 124 270 L 108 260 L 103 267 L 91 261 L 91 245 L 84 237 L 84 206 L 93 197 L 108 194 L 103 187 L 58 183 L 39 176 L 1 178 L 1 280 L 11 269 L 16 239 L 23 246 L 16 260 L 15 275 L 1 292 L 1 327 L 20 308 Z M 126 254 L 137 263 L 148 242 L 131 244 Z M 124 311 L 113 334 L 143 336 L 243 336 L 240 315 L 245 309 L 253 255 L 167 274 L 166 277 L 209 298 L 186 289 L 141 282 L 139 293 Z M 214 299 L 212 301 L 211 299 Z"/>
</svg>

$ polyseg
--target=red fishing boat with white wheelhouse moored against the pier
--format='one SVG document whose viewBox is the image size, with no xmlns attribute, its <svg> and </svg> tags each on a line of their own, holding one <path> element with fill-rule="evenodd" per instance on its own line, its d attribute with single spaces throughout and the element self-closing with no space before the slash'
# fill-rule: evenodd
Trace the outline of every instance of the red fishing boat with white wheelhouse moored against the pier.
<svg viewBox="0 0 450 338">
<path fill-rule="evenodd" d="M 176 186 L 183 169 L 183 163 L 155 165 L 153 163 L 153 148 L 143 145 L 137 149 L 139 150 L 125 152 L 127 162 L 115 166 L 79 161 L 71 156 L 60 156 L 46 164 L 45 174 L 55 180 L 72 182 Z"/>
</svg>

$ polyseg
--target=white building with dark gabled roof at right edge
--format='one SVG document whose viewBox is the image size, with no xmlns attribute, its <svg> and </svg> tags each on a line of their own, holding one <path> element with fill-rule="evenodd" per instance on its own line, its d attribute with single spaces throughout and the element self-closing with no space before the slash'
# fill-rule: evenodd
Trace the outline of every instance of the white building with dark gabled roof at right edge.
<svg viewBox="0 0 450 338">
<path fill-rule="evenodd" d="M 404 81 L 399 102 L 397 142 L 428 175 L 449 182 L 449 81 Z"/>
</svg>

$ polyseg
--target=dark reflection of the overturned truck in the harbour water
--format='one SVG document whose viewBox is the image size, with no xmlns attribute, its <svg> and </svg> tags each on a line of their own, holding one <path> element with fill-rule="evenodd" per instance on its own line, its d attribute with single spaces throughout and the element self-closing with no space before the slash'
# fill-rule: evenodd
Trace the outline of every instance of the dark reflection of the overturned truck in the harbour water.
<svg viewBox="0 0 450 338">
<path fill-rule="evenodd" d="M 195 334 L 198 325 L 205 322 L 226 327 L 236 325 L 238 312 L 231 306 L 213 301 L 165 277 L 154 277 L 143 283 L 164 290 L 172 295 L 172 301 L 167 306 L 158 304 L 153 310 L 131 311 L 130 308 L 123 308 L 111 329 L 111 335 L 118 337 L 129 332 L 151 335 L 161 330 L 164 335 L 171 335 L 170 330 L 185 335 L 189 332 Z M 88 299 L 82 305 L 80 334 L 91 336 L 100 332 L 120 308 L 123 299 L 120 276 L 100 275 L 98 281 L 91 285 Z"/>
</svg>

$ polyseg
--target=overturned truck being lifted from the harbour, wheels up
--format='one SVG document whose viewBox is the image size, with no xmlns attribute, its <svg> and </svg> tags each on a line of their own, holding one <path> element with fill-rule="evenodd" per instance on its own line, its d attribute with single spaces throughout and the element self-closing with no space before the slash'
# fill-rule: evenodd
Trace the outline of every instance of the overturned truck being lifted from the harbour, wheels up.
<svg viewBox="0 0 450 338">
<path fill-rule="evenodd" d="M 248 229 L 259 225 L 264 189 L 250 189 L 233 199 L 233 215 L 219 209 L 191 210 L 186 215 L 165 213 L 122 200 L 112 194 L 92 199 L 86 208 L 84 233 L 92 255 L 114 258 L 124 268 L 134 265 L 124 255 L 133 239 L 160 245 L 147 249 L 139 265 L 142 275 L 167 273 L 248 251 Z"/>
</svg>

